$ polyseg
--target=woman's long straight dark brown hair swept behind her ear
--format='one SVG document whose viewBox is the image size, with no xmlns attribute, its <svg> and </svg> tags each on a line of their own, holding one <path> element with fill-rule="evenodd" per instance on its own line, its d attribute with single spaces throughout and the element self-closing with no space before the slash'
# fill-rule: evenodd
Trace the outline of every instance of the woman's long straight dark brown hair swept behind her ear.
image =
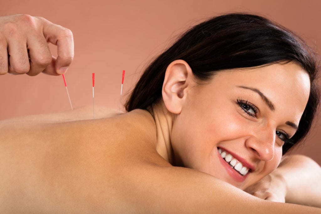
<svg viewBox="0 0 321 214">
<path fill-rule="evenodd" d="M 196 78 L 210 80 L 222 69 L 248 68 L 294 61 L 309 74 L 308 104 L 295 135 L 284 144 L 283 154 L 308 133 L 319 103 L 315 55 L 293 32 L 264 17 L 232 13 L 214 17 L 185 32 L 145 70 L 125 107 L 147 109 L 162 97 L 167 66 L 185 60 Z"/>
</svg>

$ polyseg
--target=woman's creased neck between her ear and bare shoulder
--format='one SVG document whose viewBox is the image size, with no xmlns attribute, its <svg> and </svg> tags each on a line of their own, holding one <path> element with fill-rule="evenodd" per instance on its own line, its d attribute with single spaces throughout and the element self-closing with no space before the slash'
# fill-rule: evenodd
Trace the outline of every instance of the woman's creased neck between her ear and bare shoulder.
<svg viewBox="0 0 321 214">
<path fill-rule="evenodd" d="M 156 124 L 157 144 L 156 150 L 160 156 L 173 165 L 174 153 L 170 141 L 174 115 L 167 110 L 163 101 L 152 107 L 152 115 Z"/>
</svg>

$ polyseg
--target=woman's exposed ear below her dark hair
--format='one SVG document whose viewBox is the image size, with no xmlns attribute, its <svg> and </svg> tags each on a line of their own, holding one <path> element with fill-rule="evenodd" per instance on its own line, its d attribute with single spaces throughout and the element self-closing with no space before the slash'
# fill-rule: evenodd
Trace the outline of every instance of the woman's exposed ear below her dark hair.
<svg viewBox="0 0 321 214">
<path fill-rule="evenodd" d="M 179 114 L 187 96 L 187 90 L 195 83 L 192 69 L 184 60 L 175 60 L 166 69 L 162 96 L 166 108 Z"/>
</svg>

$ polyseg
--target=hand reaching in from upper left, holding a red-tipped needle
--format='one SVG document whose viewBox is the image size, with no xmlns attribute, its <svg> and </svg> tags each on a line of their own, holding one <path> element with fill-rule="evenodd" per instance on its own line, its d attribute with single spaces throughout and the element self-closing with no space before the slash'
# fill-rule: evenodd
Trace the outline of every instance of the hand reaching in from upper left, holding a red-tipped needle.
<svg viewBox="0 0 321 214">
<path fill-rule="evenodd" d="M 57 58 L 51 55 L 48 42 L 57 46 Z M 30 15 L 0 17 L 0 75 L 59 75 L 73 58 L 74 39 L 69 29 Z"/>
</svg>

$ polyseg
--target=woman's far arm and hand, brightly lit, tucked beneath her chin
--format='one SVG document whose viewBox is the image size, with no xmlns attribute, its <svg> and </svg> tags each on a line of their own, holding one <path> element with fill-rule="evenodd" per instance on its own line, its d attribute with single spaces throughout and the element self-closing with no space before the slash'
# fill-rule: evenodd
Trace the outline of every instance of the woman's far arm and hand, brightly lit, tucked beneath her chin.
<svg viewBox="0 0 321 214">
<path fill-rule="evenodd" d="M 245 191 L 256 197 L 321 207 L 321 168 L 303 155 L 289 155 L 279 167 Z"/>
</svg>

